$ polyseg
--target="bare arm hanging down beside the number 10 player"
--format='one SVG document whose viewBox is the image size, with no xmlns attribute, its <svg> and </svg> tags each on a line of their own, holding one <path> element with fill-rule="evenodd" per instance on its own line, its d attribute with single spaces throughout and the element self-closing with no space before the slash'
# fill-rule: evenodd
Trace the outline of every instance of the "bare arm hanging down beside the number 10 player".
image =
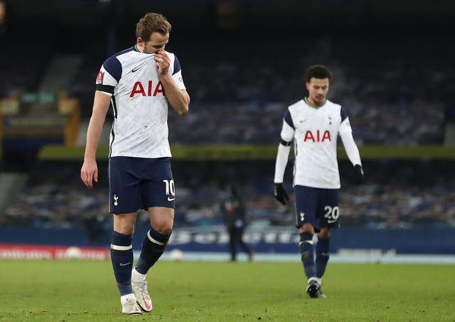
<svg viewBox="0 0 455 322">
<path fill-rule="evenodd" d="M 93 187 L 93 180 L 98 182 L 98 167 L 96 152 L 98 141 L 105 123 L 106 113 L 109 109 L 110 96 L 97 90 L 93 103 L 92 117 L 87 129 L 87 142 L 85 145 L 84 163 L 80 170 L 80 179 L 88 187 Z"/>
</svg>

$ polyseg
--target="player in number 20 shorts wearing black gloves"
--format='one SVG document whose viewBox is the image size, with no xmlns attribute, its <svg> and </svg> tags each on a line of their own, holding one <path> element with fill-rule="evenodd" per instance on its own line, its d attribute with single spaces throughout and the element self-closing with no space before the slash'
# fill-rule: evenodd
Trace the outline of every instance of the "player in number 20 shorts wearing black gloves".
<svg viewBox="0 0 455 322">
<path fill-rule="evenodd" d="M 348 114 L 341 105 L 326 99 L 331 78 L 332 72 L 326 66 L 314 65 L 306 70 L 304 79 L 309 95 L 287 108 L 275 162 L 274 196 L 286 204 L 289 197 L 283 187 L 284 172 L 294 144 L 296 227 L 308 281 L 306 293 L 312 298 L 326 297 L 321 284 L 329 258 L 330 232 L 339 226 L 338 135 L 353 165 L 355 182 L 363 181 L 362 162 Z"/>
</svg>

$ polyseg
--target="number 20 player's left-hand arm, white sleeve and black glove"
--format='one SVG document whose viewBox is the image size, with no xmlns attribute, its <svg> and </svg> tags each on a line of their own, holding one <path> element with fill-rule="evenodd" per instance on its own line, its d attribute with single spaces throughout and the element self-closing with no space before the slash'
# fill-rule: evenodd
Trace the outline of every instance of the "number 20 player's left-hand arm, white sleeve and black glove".
<svg viewBox="0 0 455 322">
<path fill-rule="evenodd" d="M 289 160 L 289 152 L 291 152 L 292 140 L 294 140 L 294 128 L 292 124 L 289 110 L 284 116 L 283 127 L 281 133 L 281 141 L 278 145 L 277 159 L 275 160 L 275 175 L 274 175 L 274 196 L 282 204 L 286 204 L 289 200 L 286 190 L 283 187 L 284 172 Z"/>
</svg>

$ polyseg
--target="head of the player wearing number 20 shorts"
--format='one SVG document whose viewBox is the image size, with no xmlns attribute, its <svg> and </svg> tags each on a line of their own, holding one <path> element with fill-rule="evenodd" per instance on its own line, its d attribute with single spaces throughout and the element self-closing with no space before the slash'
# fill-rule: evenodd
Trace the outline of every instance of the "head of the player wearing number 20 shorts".
<svg viewBox="0 0 455 322">
<path fill-rule="evenodd" d="M 332 78 L 330 68 L 323 65 L 310 66 L 304 75 L 309 103 L 321 106 L 326 102 L 328 85 Z"/>
</svg>

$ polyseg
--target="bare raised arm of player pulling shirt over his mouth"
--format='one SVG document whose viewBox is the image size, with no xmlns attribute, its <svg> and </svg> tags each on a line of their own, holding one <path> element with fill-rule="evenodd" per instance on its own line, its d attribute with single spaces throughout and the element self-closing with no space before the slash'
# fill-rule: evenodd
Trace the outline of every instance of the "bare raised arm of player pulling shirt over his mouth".
<svg viewBox="0 0 455 322">
<path fill-rule="evenodd" d="M 172 108 L 180 115 L 188 113 L 188 106 L 190 105 L 190 95 L 186 90 L 178 88 L 174 83 L 168 70 L 171 65 L 171 60 L 168 58 L 166 52 L 160 49 L 154 57 L 156 66 L 158 66 L 158 76 L 161 84 L 166 91 L 166 98 L 169 100 Z"/>
</svg>

